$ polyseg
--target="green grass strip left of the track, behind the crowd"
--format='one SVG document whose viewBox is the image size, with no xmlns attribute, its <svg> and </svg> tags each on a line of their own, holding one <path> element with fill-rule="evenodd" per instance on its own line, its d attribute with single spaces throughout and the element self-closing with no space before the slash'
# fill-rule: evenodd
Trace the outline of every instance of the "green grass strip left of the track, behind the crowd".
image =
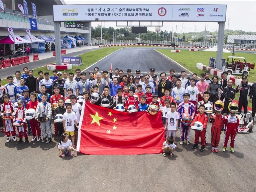
<svg viewBox="0 0 256 192">
<path fill-rule="evenodd" d="M 90 51 L 90 52 L 84 53 L 82 55 L 78 55 L 77 57 L 82 57 L 83 65 L 73 66 L 73 68 L 68 70 L 67 72 L 68 73 L 72 72 L 72 73 L 76 74 L 75 71 L 77 68 L 81 69 L 81 71 L 82 71 L 85 68 L 92 65 L 93 63 L 97 62 L 98 60 L 101 60 L 102 58 L 106 57 L 110 53 L 115 52 L 116 50 L 121 49 L 121 48 L 123 48 L 123 47 L 111 47 L 111 48 L 104 47 L 99 50 Z M 43 62 L 43 60 L 42 60 L 42 62 Z M 47 71 L 47 68 L 46 68 L 46 66 L 44 66 L 44 67 L 39 67 L 39 68 L 34 69 L 33 70 L 34 76 L 39 77 L 38 71 L 40 71 L 40 70 L 45 72 L 45 71 Z M 60 70 L 60 71 L 63 72 L 65 70 Z M 24 73 L 22 73 L 22 74 L 24 74 Z M 52 76 L 51 71 L 50 71 L 50 76 Z M 15 77 L 15 76 L 13 76 L 13 77 Z M 7 79 L 2 79 L 2 83 L 1 83 L 2 85 L 5 85 L 7 83 L 8 83 Z"/>
</svg>

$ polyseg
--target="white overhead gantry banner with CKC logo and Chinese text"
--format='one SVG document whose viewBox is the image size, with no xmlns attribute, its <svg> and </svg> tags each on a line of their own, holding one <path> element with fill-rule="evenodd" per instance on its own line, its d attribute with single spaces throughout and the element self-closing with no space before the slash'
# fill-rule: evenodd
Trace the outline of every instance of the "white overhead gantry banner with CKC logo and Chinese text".
<svg viewBox="0 0 256 192">
<path fill-rule="evenodd" d="M 53 5 L 54 21 L 226 21 L 227 5 Z"/>
</svg>

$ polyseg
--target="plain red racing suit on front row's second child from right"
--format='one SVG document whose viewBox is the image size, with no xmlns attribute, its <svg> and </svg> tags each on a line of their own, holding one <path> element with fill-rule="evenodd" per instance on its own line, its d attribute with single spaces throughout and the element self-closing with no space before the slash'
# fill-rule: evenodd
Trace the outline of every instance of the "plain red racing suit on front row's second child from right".
<svg viewBox="0 0 256 192">
<path fill-rule="evenodd" d="M 215 119 L 213 119 L 213 115 L 215 115 Z M 220 114 L 212 114 L 209 122 L 212 123 L 212 147 L 218 147 L 220 143 L 220 132 L 224 128 L 224 118 L 225 116 Z"/>
</svg>

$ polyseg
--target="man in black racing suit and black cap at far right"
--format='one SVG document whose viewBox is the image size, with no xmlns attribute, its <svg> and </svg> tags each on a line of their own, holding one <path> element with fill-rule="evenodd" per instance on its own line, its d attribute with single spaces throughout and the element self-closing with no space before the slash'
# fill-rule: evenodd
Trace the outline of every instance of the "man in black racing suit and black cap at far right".
<svg viewBox="0 0 256 192">
<path fill-rule="evenodd" d="M 242 112 L 242 107 L 244 107 L 244 114 L 247 113 L 248 106 L 248 96 L 251 94 L 251 85 L 248 84 L 247 76 L 242 76 L 242 83 L 236 87 L 236 93 L 239 92 L 238 99 L 238 113 Z"/>
</svg>

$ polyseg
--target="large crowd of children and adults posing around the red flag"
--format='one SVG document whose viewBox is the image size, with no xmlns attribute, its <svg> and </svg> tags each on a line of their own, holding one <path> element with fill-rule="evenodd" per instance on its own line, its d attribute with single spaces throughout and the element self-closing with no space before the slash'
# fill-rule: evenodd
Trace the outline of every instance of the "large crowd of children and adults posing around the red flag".
<svg viewBox="0 0 256 192">
<path fill-rule="evenodd" d="M 180 145 L 184 142 L 189 145 L 190 129 L 198 122 L 201 122 L 202 130 L 196 132 L 193 149 L 197 148 L 201 137 L 201 151 L 204 151 L 208 120 L 212 123 L 212 152 L 218 152 L 220 133 L 224 130 L 226 136 L 223 151 L 227 151 L 231 135 L 230 150 L 233 153 L 239 124 L 236 112 L 241 113 L 243 107 L 244 113 L 247 113 L 249 100 L 252 102 L 252 117 L 255 115 L 256 83 L 248 84 L 247 77 L 243 76 L 242 83 L 235 89 L 232 87 L 233 82 L 227 80 L 227 72 L 223 72 L 220 80 L 218 76 L 209 79 L 210 73 L 205 72 L 200 75 L 199 81 L 196 73 L 191 79 L 186 78 L 185 71 L 181 71 L 181 77 L 177 78 L 173 69 L 170 70 L 170 76 L 166 76 L 165 72 L 161 73 L 160 80 L 154 68 L 150 68 L 146 75 L 142 75 L 137 69 L 133 76 L 131 69 L 127 69 L 126 74 L 118 68 L 114 70 L 114 74 L 112 71 L 103 71 L 101 74 L 99 68 L 95 67 L 94 71 L 89 72 L 88 79 L 86 72 L 81 72 L 80 69 L 76 69 L 76 75 L 53 70 L 50 76 L 48 71 L 38 71 L 39 77 L 35 77 L 33 70 L 28 70 L 27 67 L 23 71 L 22 76 L 20 71 L 15 72 L 15 78 L 8 76 L 8 84 L 4 86 L 0 79 L 1 132 L 6 134 L 6 142 L 10 142 L 11 135 L 12 140 L 16 141 L 13 121 L 21 118 L 21 126 L 17 128 L 19 143 L 23 141 L 22 134 L 28 143 L 31 131 L 32 141 L 40 141 L 42 132 L 42 142 L 50 143 L 52 119 L 54 136 L 61 138 L 58 148 L 62 157 L 65 154 L 72 156 L 71 151 L 75 150 L 82 101 L 128 113 L 161 111 L 166 130 L 164 156 L 168 150 L 173 155 L 176 148 L 173 141 L 179 128 Z M 233 102 L 236 92 L 240 95 L 238 105 Z M 234 109 L 236 107 L 237 110 Z M 36 114 L 33 119 L 27 120 L 26 111 L 31 108 L 36 110 Z M 6 111 L 11 111 L 12 114 L 6 114 Z M 42 113 L 45 114 L 44 118 Z M 56 121 L 56 116 L 60 118 L 60 115 L 63 123 Z M 69 135 L 72 141 L 67 139 Z"/>
</svg>

